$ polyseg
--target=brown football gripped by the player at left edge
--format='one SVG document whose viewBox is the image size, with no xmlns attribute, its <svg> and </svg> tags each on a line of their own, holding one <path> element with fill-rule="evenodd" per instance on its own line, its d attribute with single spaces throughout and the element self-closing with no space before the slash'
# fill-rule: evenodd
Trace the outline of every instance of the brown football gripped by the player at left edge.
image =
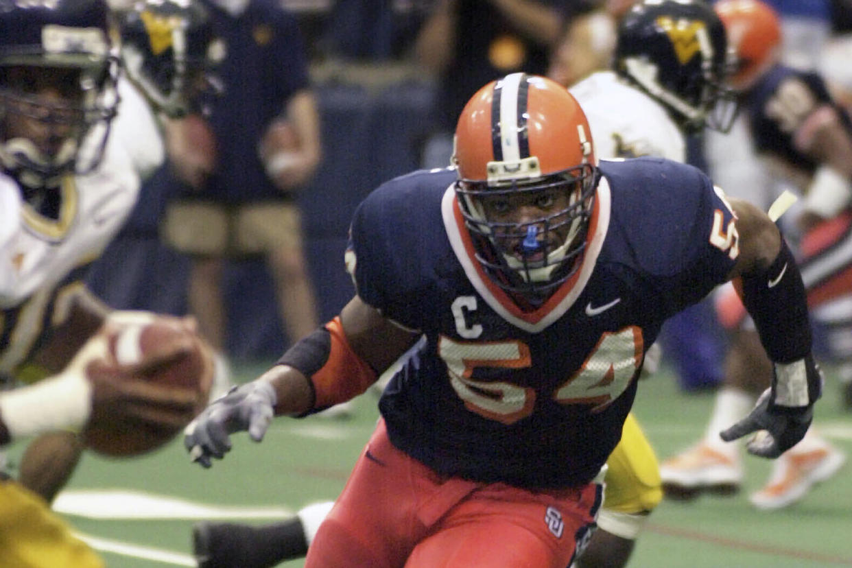
<svg viewBox="0 0 852 568">
<path fill-rule="evenodd" d="M 150 317 L 146 317 L 150 316 Z M 109 416 L 93 416 L 83 441 L 106 456 L 138 456 L 174 439 L 191 419 L 175 423 L 153 416 L 167 407 L 169 393 L 193 395 L 193 416 L 204 409 L 213 376 L 212 350 L 181 318 L 142 314 L 101 333 L 106 353 L 86 369 L 90 380 L 150 383 L 156 399 L 141 394 L 134 404 L 116 404 Z M 100 376 L 99 376 L 100 375 Z M 163 398 L 164 397 L 164 398 Z M 142 410 L 140 410 L 142 409 Z M 144 416 L 143 417 L 141 417 Z"/>
</svg>

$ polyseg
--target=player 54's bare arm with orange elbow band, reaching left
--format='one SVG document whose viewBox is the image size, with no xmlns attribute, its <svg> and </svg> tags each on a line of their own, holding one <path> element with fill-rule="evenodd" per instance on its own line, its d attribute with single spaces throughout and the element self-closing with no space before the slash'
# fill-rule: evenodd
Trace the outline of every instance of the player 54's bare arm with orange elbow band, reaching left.
<svg viewBox="0 0 852 568">
<path fill-rule="evenodd" d="M 273 416 L 303 416 L 354 398 L 416 339 L 356 295 L 272 369 L 204 409 L 184 431 L 190 459 L 210 468 L 231 449 L 232 433 L 247 431 L 259 442 Z"/>
</svg>

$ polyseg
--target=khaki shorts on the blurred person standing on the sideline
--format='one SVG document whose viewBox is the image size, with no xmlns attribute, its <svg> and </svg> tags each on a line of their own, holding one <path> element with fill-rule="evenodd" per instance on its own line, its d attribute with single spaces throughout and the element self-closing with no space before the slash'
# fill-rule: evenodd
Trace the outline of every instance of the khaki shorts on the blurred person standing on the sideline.
<svg viewBox="0 0 852 568">
<path fill-rule="evenodd" d="M 302 246 L 299 209 L 286 202 L 173 201 L 161 228 L 163 242 L 187 255 L 263 255 Z"/>
</svg>

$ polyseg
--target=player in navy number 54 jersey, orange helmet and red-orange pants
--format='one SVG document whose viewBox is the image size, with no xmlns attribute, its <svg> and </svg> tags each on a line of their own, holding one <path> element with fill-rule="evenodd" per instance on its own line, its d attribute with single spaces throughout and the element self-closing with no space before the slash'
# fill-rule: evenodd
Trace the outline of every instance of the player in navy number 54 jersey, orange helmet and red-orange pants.
<svg viewBox="0 0 852 568">
<path fill-rule="evenodd" d="M 764 430 L 749 449 L 766 457 L 802 437 L 820 371 L 796 262 L 766 214 L 691 166 L 598 164 L 582 109 L 544 77 L 488 83 L 455 146 L 455 167 L 389 181 L 355 211 L 357 294 L 340 315 L 187 427 L 210 467 L 230 434 L 260 440 L 273 416 L 351 399 L 426 337 L 307 566 L 565 568 L 594 531 L 645 349 L 731 278 L 775 379 L 723 435 Z"/>
</svg>

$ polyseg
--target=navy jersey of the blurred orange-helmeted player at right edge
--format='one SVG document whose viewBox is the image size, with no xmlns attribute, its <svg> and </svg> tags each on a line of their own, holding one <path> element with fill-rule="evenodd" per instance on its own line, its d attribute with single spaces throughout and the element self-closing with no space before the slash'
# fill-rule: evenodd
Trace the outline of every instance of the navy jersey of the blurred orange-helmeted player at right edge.
<svg viewBox="0 0 852 568">
<path fill-rule="evenodd" d="M 774 66 L 746 99 L 757 152 L 771 153 L 812 174 L 818 164 L 796 148 L 794 139 L 811 113 L 824 106 L 832 106 L 850 127 L 848 116 L 834 103 L 819 75 Z"/>
</svg>

